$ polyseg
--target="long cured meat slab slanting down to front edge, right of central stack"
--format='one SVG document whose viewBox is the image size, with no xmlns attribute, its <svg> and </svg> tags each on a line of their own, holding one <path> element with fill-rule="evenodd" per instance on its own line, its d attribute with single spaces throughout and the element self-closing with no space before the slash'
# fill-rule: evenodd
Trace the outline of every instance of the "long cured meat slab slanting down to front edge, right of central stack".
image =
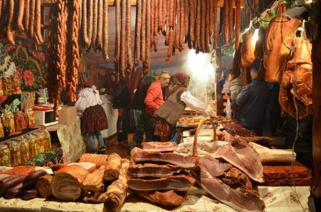
<svg viewBox="0 0 321 212">
<path fill-rule="evenodd" d="M 208 157 L 207 159 L 200 160 L 195 168 L 191 170 L 191 174 L 198 182 L 198 185 L 209 192 L 211 196 L 237 211 L 263 211 L 265 205 L 259 198 L 257 191 L 240 185 L 236 188 L 230 187 L 225 183 L 226 181 L 224 182 L 218 178 L 221 172 L 216 170 L 222 170 L 222 168 L 216 168 L 215 166 L 222 165 L 218 161 L 213 163 L 212 167 L 204 165 L 208 160 L 211 162 L 215 161 L 214 158 L 210 159 Z M 215 172 L 209 168 L 214 169 Z"/>
</svg>

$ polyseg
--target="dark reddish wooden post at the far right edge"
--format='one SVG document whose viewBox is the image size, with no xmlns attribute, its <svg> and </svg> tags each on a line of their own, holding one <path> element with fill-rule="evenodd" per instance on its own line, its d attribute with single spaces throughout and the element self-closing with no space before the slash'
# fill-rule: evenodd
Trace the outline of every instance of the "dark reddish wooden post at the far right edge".
<svg viewBox="0 0 321 212">
<path fill-rule="evenodd" d="M 312 133 L 312 154 L 313 154 L 313 193 L 316 197 L 321 198 L 321 180 L 320 180 L 320 163 L 321 163 L 321 36 L 313 45 L 313 133 Z"/>
</svg>

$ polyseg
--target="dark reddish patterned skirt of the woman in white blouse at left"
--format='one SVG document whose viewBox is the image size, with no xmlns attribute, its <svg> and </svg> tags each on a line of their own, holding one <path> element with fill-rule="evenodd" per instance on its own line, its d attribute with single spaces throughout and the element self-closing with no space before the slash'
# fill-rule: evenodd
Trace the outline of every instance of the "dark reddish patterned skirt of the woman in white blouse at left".
<svg viewBox="0 0 321 212">
<path fill-rule="evenodd" d="M 85 109 L 82 114 L 82 134 L 95 133 L 104 129 L 108 129 L 108 121 L 102 105 Z"/>
</svg>

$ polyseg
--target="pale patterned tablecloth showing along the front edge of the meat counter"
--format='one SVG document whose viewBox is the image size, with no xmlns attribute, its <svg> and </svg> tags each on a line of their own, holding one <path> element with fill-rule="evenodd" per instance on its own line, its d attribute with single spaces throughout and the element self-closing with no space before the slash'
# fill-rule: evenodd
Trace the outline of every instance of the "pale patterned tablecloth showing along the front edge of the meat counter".
<svg viewBox="0 0 321 212">
<path fill-rule="evenodd" d="M 265 203 L 266 211 L 308 211 L 308 197 L 310 187 L 258 187 L 261 199 Z M 297 192 L 297 194 L 296 194 Z M 301 206 L 302 204 L 302 206 Z M 58 202 L 56 199 L 32 200 L 0 198 L 1 211 L 91 211 L 101 212 L 103 204 L 87 204 L 84 202 Z M 304 207 L 304 209 L 302 209 Z M 121 211 L 168 211 L 157 207 L 141 198 L 130 195 L 126 198 Z M 171 211 L 235 211 L 230 207 L 213 200 L 203 189 L 192 187 L 187 199 L 178 208 Z"/>
</svg>

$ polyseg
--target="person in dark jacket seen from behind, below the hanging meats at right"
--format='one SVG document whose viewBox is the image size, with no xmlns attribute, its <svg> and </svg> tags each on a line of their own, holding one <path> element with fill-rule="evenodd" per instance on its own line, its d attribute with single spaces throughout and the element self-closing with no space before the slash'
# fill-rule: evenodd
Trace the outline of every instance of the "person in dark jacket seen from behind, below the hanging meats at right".
<svg viewBox="0 0 321 212">
<path fill-rule="evenodd" d="M 261 136 L 270 91 L 267 83 L 257 77 L 259 66 L 259 62 L 253 62 L 250 70 L 252 83 L 242 88 L 236 103 L 241 106 L 239 123 Z"/>
</svg>

